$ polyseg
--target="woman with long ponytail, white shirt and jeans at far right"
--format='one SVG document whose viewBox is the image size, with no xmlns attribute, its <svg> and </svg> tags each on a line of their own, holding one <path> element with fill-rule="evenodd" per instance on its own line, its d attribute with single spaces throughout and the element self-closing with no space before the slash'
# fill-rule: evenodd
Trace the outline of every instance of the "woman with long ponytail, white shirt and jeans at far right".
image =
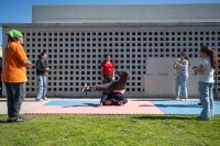
<svg viewBox="0 0 220 146">
<path fill-rule="evenodd" d="M 199 100 L 204 106 L 197 120 L 208 121 L 213 117 L 213 72 L 218 67 L 216 50 L 208 45 L 200 48 L 201 60 L 194 72 L 197 75 Z"/>
</svg>

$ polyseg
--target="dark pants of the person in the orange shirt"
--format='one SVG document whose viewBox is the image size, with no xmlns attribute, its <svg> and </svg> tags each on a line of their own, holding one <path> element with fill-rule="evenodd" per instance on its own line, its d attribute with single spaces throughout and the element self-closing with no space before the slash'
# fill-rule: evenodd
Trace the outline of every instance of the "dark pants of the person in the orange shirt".
<svg viewBox="0 0 220 146">
<path fill-rule="evenodd" d="M 4 82 L 8 94 L 8 115 L 9 117 L 18 116 L 21 104 L 26 96 L 25 82 Z"/>
</svg>

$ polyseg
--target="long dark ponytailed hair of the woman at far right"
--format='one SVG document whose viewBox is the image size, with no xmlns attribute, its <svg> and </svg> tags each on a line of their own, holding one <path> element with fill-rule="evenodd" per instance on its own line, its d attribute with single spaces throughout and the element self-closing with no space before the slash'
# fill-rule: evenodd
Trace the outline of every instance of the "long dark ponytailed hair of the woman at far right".
<svg viewBox="0 0 220 146">
<path fill-rule="evenodd" d="M 211 49 L 208 45 L 202 45 L 200 52 L 206 53 L 210 57 L 211 67 L 216 70 L 218 67 L 217 54 L 215 49 Z"/>
</svg>

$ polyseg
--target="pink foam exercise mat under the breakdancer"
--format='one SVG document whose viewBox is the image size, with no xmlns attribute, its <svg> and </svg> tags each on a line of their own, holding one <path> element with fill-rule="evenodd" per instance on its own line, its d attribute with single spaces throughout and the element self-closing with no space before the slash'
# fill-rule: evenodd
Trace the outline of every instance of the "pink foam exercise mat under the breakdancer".
<svg viewBox="0 0 220 146">
<path fill-rule="evenodd" d="M 129 101 L 124 106 L 43 105 L 26 114 L 164 114 L 150 101 Z"/>
</svg>

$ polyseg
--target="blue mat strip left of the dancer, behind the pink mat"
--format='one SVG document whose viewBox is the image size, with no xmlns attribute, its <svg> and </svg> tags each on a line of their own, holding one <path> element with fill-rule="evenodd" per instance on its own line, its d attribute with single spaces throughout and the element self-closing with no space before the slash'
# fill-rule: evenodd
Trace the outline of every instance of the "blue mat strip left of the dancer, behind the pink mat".
<svg viewBox="0 0 220 146">
<path fill-rule="evenodd" d="M 73 106 L 97 106 L 100 101 L 87 101 L 87 100 L 54 100 L 44 105 L 73 105 Z"/>
</svg>

